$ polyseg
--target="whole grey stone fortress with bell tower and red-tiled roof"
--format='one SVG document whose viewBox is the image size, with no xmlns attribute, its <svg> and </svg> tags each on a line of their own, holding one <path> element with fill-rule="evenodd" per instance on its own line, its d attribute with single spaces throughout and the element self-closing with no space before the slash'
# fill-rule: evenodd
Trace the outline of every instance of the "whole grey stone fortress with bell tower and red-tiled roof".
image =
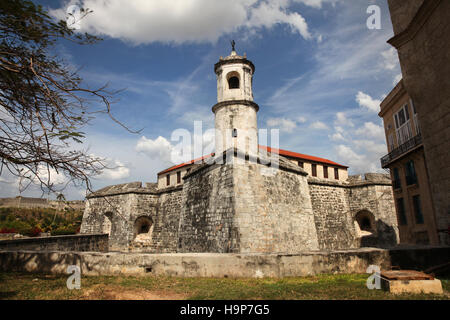
<svg viewBox="0 0 450 320">
<path fill-rule="evenodd" d="M 160 172 L 157 183 L 91 193 L 81 233 L 109 234 L 111 251 L 150 253 L 290 254 L 398 243 L 388 175 L 348 176 L 348 167 L 328 159 L 259 145 L 255 66 L 233 46 L 214 71 L 216 152 Z"/>
</svg>

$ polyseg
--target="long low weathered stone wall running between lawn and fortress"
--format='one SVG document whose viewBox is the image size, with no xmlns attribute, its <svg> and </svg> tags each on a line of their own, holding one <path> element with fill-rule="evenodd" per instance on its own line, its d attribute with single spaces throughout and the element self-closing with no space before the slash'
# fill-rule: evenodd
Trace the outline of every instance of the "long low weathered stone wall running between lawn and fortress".
<svg viewBox="0 0 450 320">
<path fill-rule="evenodd" d="M 65 274 L 69 265 L 78 265 L 83 275 L 291 277 L 365 273 L 369 265 L 378 265 L 382 270 L 393 266 L 425 270 L 448 262 L 449 257 L 450 247 L 360 248 L 289 255 L 0 251 L 0 271 Z"/>
</svg>

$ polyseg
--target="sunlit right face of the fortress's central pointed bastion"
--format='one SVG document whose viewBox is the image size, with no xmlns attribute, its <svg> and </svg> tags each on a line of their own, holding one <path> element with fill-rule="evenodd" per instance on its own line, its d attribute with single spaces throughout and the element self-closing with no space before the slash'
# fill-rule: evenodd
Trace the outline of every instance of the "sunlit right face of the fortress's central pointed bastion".
<svg viewBox="0 0 450 320">
<path fill-rule="evenodd" d="M 240 252 L 319 249 L 306 173 L 288 160 L 268 169 L 256 163 L 233 168 Z"/>
</svg>

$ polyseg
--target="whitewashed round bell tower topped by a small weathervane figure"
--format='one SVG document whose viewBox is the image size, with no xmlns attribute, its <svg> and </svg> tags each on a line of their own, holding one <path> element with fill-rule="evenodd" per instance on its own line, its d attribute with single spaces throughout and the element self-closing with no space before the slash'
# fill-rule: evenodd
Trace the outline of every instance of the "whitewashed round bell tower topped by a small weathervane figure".
<svg viewBox="0 0 450 320">
<path fill-rule="evenodd" d="M 217 76 L 217 104 L 215 115 L 216 155 L 237 148 L 242 152 L 257 154 L 257 112 L 253 102 L 252 79 L 255 66 L 246 55 L 239 56 L 234 40 L 228 57 L 220 57 L 214 65 Z"/>
</svg>

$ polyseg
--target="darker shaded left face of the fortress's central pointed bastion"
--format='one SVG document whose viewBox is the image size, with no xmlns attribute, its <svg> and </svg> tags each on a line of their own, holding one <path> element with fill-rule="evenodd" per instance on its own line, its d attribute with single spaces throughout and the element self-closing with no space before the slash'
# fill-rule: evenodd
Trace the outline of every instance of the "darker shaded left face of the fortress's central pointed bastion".
<svg viewBox="0 0 450 320">
<path fill-rule="evenodd" d="M 233 168 L 205 166 L 185 179 L 179 252 L 239 252 Z"/>
</svg>

